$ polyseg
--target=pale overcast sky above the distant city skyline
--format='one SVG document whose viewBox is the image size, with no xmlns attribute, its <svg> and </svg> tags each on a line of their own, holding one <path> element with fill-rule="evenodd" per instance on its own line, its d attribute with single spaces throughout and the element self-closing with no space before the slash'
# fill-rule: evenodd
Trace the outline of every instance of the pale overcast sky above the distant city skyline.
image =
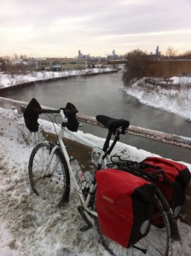
<svg viewBox="0 0 191 256">
<path fill-rule="evenodd" d="M 191 50 L 191 0 L 0 0 L 0 56 Z"/>
</svg>

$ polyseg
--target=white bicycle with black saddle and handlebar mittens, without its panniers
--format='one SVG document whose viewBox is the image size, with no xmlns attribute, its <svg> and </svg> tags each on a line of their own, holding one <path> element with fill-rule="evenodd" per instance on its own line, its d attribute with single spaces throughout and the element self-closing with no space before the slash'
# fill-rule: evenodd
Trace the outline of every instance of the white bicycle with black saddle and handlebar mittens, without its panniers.
<svg viewBox="0 0 191 256">
<path fill-rule="evenodd" d="M 57 136 L 57 143 L 42 142 L 38 143 L 32 149 L 28 165 L 32 191 L 46 199 L 51 199 L 56 205 L 61 207 L 69 201 L 72 177 L 80 200 L 78 212 L 86 223 L 84 227 L 81 228 L 81 231 L 92 228 L 92 220 L 94 220 L 96 230 L 101 237 L 102 245 L 112 255 L 143 255 L 146 253 L 147 255 L 168 255 L 170 240 L 180 240 L 180 236 L 177 230 L 176 219 L 159 189 L 156 189 L 154 195 L 154 207 L 157 208 L 158 217 L 163 221 L 163 227 L 151 224 L 147 236 L 128 248 L 121 247 L 118 243 L 101 234 L 96 212 L 95 176 L 88 181 L 84 179 L 82 183 L 78 183 L 76 175 L 72 171 L 70 157 L 62 140 L 65 133 L 67 133 L 91 148 L 96 148 L 100 154 L 96 165 L 96 172 L 99 172 L 99 170 L 107 168 L 109 165 L 116 165 L 117 162 L 113 162 L 113 158 L 110 157 L 110 154 L 115 144 L 119 141 L 120 135 L 125 134 L 127 131 L 130 122 L 124 119 L 113 119 L 105 115 L 97 115 L 96 120 L 107 128 L 107 137 L 101 148 L 75 132 L 78 131 L 78 120 L 76 119 L 78 110 L 71 103 L 69 103 L 69 105 L 67 104 L 66 108 L 53 110 L 42 109 L 35 99 L 32 99 L 32 101 L 28 104 L 24 113 L 26 126 L 28 128 L 31 122 L 32 130 L 38 130 L 38 114 L 41 113 L 54 113 L 59 115 L 62 121 Z M 113 142 L 110 143 L 112 137 L 114 137 L 114 139 Z M 126 162 L 125 165 L 128 167 L 128 162 Z M 132 167 L 132 162 L 129 163 L 129 167 L 130 165 Z M 123 169 L 124 166 L 119 167 Z M 129 169 L 126 168 L 127 172 L 128 170 Z M 149 177 L 146 177 L 142 172 L 135 172 L 134 174 L 149 179 Z"/>
</svg>

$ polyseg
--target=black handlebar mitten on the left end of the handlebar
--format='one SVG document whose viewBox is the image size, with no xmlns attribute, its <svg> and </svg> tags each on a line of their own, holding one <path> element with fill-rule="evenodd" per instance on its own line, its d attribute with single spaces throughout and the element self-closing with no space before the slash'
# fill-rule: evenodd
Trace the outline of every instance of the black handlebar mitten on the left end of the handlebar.
<svg viewBox="0 0 191 256">
<path fill-rule="evenodd" d="M 38 101 L 35 98 L 32 98 L 23 113 L 26 127 L 32 132 L 38 131 L 38 113 L 36 110 L 41 110 L 41 107 Z"/>
</svg>

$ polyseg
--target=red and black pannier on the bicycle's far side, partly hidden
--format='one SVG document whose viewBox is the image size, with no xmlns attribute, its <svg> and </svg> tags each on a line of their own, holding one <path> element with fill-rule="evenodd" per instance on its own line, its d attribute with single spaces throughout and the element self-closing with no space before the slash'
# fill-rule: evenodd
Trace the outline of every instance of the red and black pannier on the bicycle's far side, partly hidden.
<svg viewBox="0 0 191 256">
<path fill-rule="evenodd" d="M 154 183 L 163 195 L 165 195 L 166 200 L 174 212 L 174 216 L 177 218 L 185 201 L 185 189 L 191 179 L 191 173 L 188 167 L 160 157 L 148 157 L 142 163 L 146 164 L 143 167 L 144 171 L 155 172 L 156 175 L 159 175 L 157 181 Z M 162 174 L 161 172 L 156 172 L 156 169 L 153 167 L 158 167 L 158 170 L 160 169 Z"/>
</svg>

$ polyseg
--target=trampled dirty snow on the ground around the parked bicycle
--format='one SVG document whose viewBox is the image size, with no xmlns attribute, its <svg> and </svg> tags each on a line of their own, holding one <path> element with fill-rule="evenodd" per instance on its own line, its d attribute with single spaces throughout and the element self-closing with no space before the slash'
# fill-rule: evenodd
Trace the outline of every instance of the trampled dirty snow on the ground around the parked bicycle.
<svg viewBox="0 0 191 256">
<path fill-rule="evenodd" d="M 0 108 L 0 120 L 0 256 L 107 256 L 96 229 L 79 231 L 84 220 L 77 210 L 78 195 L 73 186 L 69 203 L 61 208 L 32 194 L 27 166 L 33 146 L 41 140 L 40 133 L 27 131 L 23 116 L 12 109 Z M 48 121 L 39 122 L 46 131 L 54 131 Z M 102 138 L 78 133 L 93 143 L 103 143 Z M 115 150 L 130 160 L 153 155 L 123 143 Z M 186 165 L 191 171 L 191 165 Z M 178 228 L 182 241 L 173 242 L 172 255 L 189 255 L 191 227 L 178 221 Z"/>
</svg>

